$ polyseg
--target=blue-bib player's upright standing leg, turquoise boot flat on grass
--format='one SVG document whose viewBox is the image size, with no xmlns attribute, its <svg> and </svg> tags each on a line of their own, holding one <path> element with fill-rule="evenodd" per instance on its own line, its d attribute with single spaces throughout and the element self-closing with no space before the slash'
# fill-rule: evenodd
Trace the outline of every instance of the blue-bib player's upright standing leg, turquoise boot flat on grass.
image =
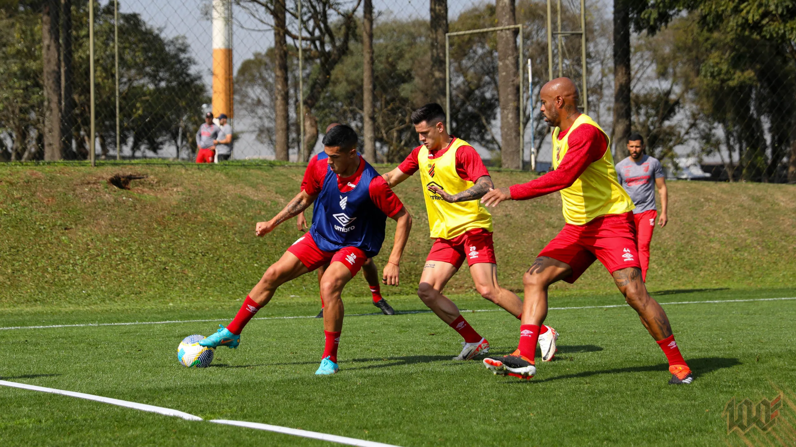
<svg viewBox="0 0 796 447">
<path fill-rule="evenodd" d="M 325 344 L 321 366 L 316 375 L 330 375 L 338 372 L 338 345 L 343 328 L 343 301 L 340 294 L 345 284 L 351 280 L 351 270 L 343 262 L 332 262 L 321 279 L 321 294 L 324 297 L 323 335 Z"/>
</svg>

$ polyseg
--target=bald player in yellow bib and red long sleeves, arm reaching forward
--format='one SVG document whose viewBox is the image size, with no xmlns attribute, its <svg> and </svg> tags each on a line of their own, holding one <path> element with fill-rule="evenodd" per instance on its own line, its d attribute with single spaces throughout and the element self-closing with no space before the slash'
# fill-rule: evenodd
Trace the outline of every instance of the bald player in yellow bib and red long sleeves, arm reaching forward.
<svg viewBox="0 0 796 447">
<path fill-rule="evenodd" d="M 669 383 L 691 383 L 693 375 L 674 341 L 669 318 L 642 281 L 634 204 L 617 180 L 607 134 L 578 110 L 579 94 L 572 80 L 558 78 L 544 84 L 540 100 L 544 121 L 553 128 L 555 170 L 522 185 L 493 189 L 481 201 L 494 207 L 504 200 L 528 200 L 560 191 L 566 224 L 522 278 L 525 301 L 517 350 L 509 356 L 487 358 L 484 364 L 494 374 L 533 377 L 537 337 L 548 312 L 548 287 L 560 280 L 575 282 L 599 259 L 669 360 Z"/>
</svg>

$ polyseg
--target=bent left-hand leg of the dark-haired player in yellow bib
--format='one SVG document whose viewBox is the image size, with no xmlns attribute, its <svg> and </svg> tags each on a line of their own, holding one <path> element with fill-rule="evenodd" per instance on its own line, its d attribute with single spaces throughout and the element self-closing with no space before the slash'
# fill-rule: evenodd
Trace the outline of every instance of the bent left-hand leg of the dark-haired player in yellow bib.
<svg viewBox="0 0 796 447">
<path fill-rule="evenodd" d="M 456 266 L 450 262 L 426 261 L 417 295 L 429 309 L 451 326 L 462 338 L 462 352 L 453 360 L 472 360 L 478 354 L 490 350 L 490 342 L 475 332 L 475 329 L 462 317 L 453 301 L 443 295 L 442 290 L 448 280 L 456 273 Z"/>
</svg>

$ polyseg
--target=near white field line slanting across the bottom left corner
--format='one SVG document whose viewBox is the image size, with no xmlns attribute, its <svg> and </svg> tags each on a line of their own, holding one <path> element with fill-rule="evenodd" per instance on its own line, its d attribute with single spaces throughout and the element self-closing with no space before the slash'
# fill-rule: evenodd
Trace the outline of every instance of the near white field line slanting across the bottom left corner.
<svg viewBox="0 0 796 447">
<path fill-rule="evenodd" d="M 127 400 L 106 398 L 97 395 L 87 395 L 85 393 L 77 393 L 75 391 L 58 390 L 57 388 L 37 387 L 36 385 L 28 385 L 27 383 L 9 382 L 7 380 L 0 380 L 0 385 L 6 387 L 22 388 L 24 390 L 42 391 L 45 393 L 53 393 L 54 395 L 71 396 L 73 398 L 84 398 L 96 402 L 110 403 L 111 405 L 126 406 L 127 408 L 134 408 L 135 410 L 149 411 L 151 413 L 163 414 L 166 416 L 176 416 L 188 421 L 204 421 L 204 419 L 194 416 L 193 414 L 184 413 L 179 410 L 172 410 L 163 406 L 146 405 L 145 403 L 130 402 Z M 228 426 L 247 427 L 256 430 L 267 430 L 276 433 L 291 434 L 298 437 L 310 437 L 312 439 L 320 439 L 322 441 L 337 442 L 338 444 L 345 445 L 361 445 L 362 447 L 396 447 L 392 444 L 383 444 L 381 442 L 364 441 L 355 437 L 338 436 L 335 434 L 318 433 L 308 430 L 291 429 L 288 427 L 271 426 L 268 424 L 260 424 L 258 422 L 245 422 L 245 421 L 227 421 L 224 419 L 213 419 L 208 422 L 215 422 L 217 424 L 224 424 Z"/>
</svg>

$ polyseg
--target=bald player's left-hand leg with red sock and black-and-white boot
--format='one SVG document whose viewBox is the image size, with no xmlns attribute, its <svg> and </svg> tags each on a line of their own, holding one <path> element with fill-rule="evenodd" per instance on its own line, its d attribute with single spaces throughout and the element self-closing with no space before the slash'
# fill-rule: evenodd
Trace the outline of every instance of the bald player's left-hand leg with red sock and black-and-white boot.
<svg viewBox="0 0 796 447">
<path fill-rule="evenodd" d="M 548 287 L 571 273 L 570 266 L 553 258 L 540 257 L 533 262 L 522 277 L 525 286 L 525 300 L 522 307 L 520 343 L 517 345 L 517 350 L 508 356 L 484 359 L 487 369 L 496 375 L 513 375 L 522 379 L 530 379 L 536 375 L 537 368 L 534 357 L 540 333 L 544 332 L 547 340 L 552 339 L 553 345 L 556 339 L 555 330 L 542 324 L 548 311 Z M 554 347 L 552 350 L 552 354 L 555 354 Z M 550 356 L 549 351 L 548 347 L 548 356 Z M 542 346 L 542 354 L 543 356 L 545 354 L 544 346 Z M 552 356 L 550 359 L 552 360 Z"/>
</svg>

